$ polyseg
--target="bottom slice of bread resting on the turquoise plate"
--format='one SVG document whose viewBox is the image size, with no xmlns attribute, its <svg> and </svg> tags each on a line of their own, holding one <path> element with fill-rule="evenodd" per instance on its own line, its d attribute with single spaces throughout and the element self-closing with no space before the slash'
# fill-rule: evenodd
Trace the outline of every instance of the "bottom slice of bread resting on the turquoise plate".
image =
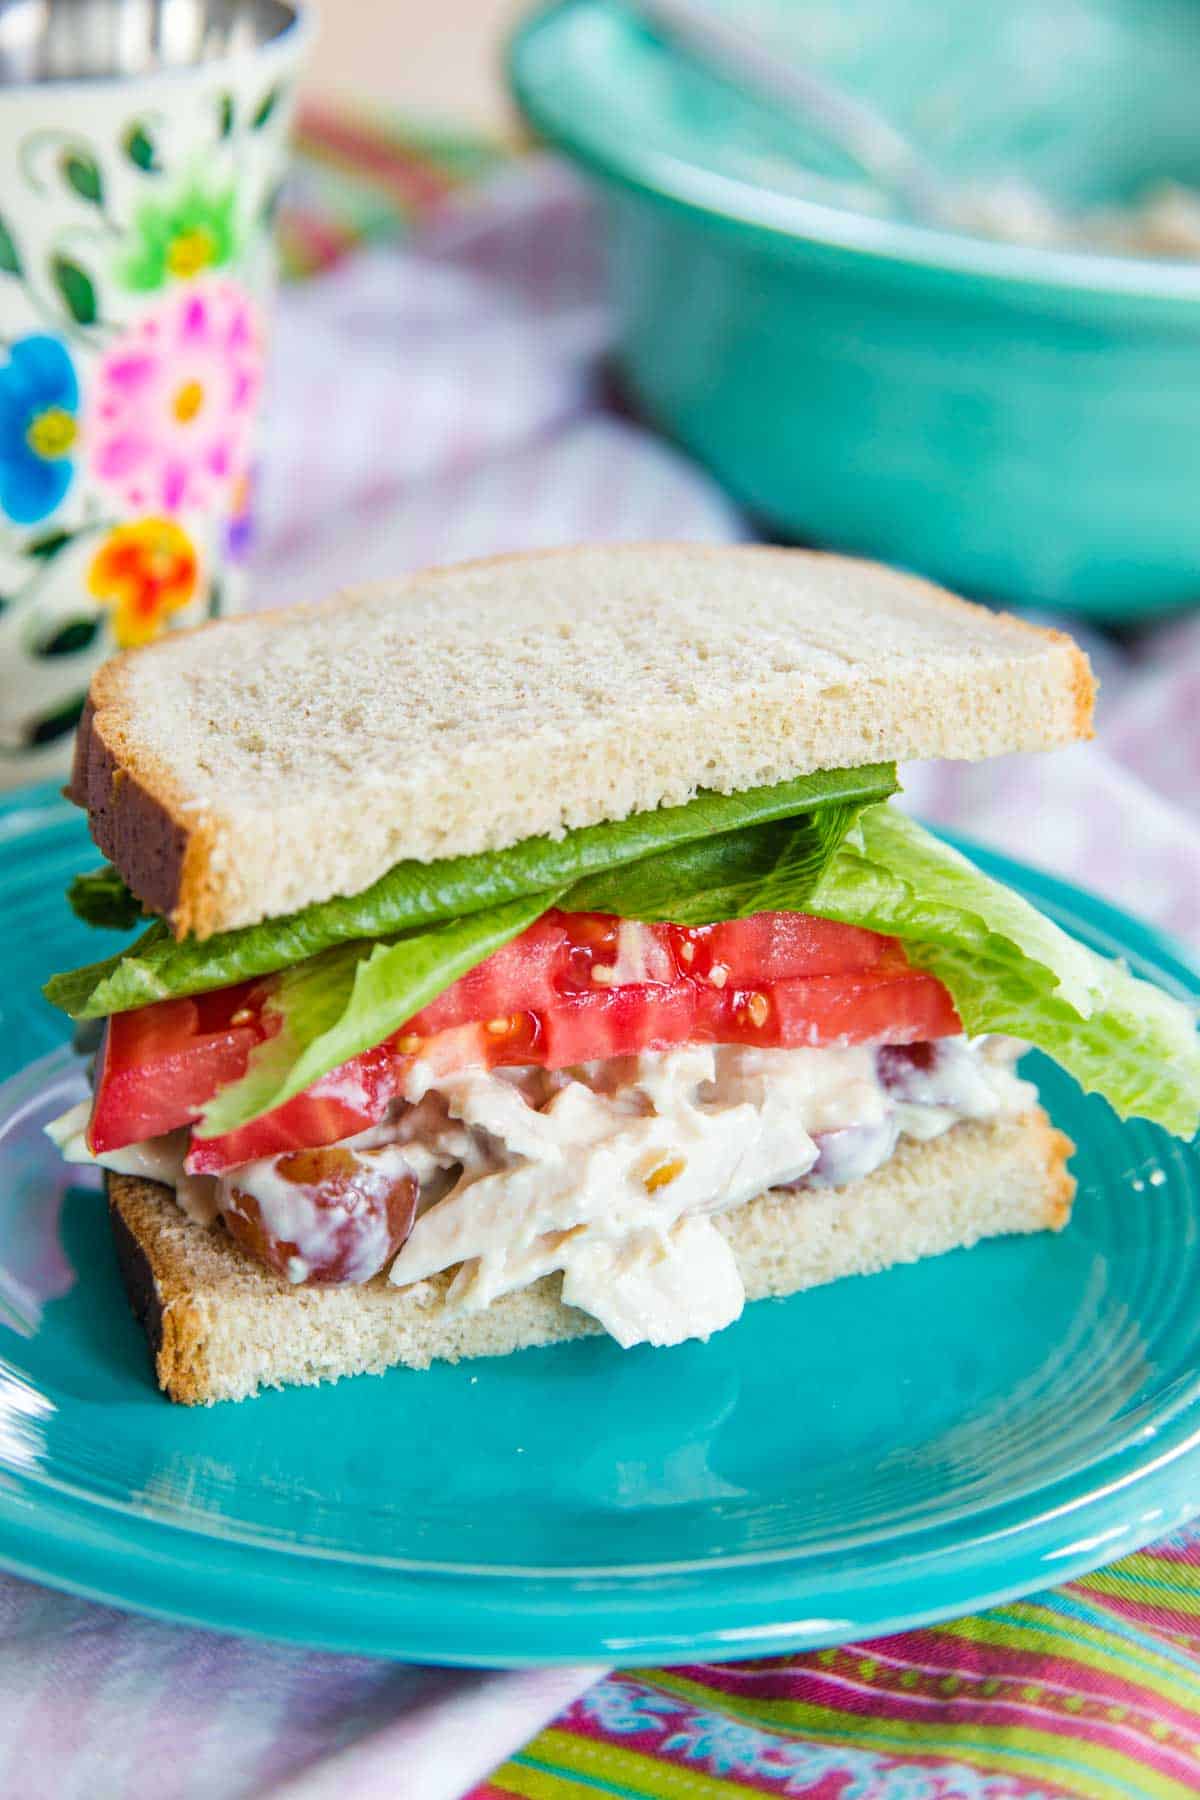
<svg viewBox="0 0 1200 1800">
<path fill-rule="evenodd" d="M 1070 1217 L 1074 1145 L 1042 1111 L 905 1139 L 847 1188 L 774 1190 L 716 1219 L 747 1298 L 795 1294 L 874 1274 L 979 1238 L 1058 1231 Z M 108 1175 L 117 1258 L 155 1357 L 158 1386 L 187 1406 L 259 1388 L 380 1373 L 396 1363 L 506 1355 L 601 1327 L 560 1298 L 561 1278 L 506 1294 L 482 1312 L 448 1312 L 450 1274 L 412 1287 L 290 1287 L 221 1226 L 198 1226 L 169 1188 Z M 732 1327 L 736 1330 L 736 1325 Z"/>
</svg>

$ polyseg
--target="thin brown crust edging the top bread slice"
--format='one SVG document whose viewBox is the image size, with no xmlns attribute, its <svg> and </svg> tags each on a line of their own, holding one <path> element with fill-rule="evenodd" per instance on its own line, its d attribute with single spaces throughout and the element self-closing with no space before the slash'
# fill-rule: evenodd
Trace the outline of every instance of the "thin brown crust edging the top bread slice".
<svg viewBox="0 0 1200 1800">
<path fill-rule="evenodd" d="M 421 590 L 430 580 L 437 580 L 448 572 L 468 574 L 471 571 L 500 571 L 515 565 L 524 567 L 569 560 L 579 554 L 579 549 L 486 556 L 459 563 L 453 571 L 419 571 L 401 583 L 389 585 L 389 592 L 398 601 L 403 601 L 407 592 Z M 1090 734 L 1096 682 L 1083 652 L 1061 632 L 1029 625 L 1007 614 L 988 614 L 986 608 L 959 599 L 918 576 L 900 574 L 887 571 L 882 563 L 856 562 L 831 553 L 792 551 L 774 545 L 640 544 L 622 545 L 621 551 L 613 551 L 612 554 L 637 556 L 664 553 L 694 558 L 696 562 L 727 558 L 730 567 L 739 562 L 788 560 L 795 563 L 802 558 L 815 567 L 847 569 L 871 574 L 873 578 L 885 578 L 891 592 L 898 596 L 903 592 L 918 594 L 925 607 L 945 614 L 972 616 L 975 621 L 1002 617 L 1009 628 L 1020 632 L 1027 641 L 1067 652 L 1067 688 L 1070 691 L 1069 734 L 1074 738 Z M 353 608 L 360 596 L 378 592 L 381 589 L 376 585 L 333 596 L 304 610 L 309 614 L 340 612 Z M 148 911 L 158 913 L 171 922 L 176 938 L 187 934 L 207 938 L 214 931 L 250 923 L 250 918 L 234 916 L 232 911 L 232 900 L 227 893 L 227 873 L 219 866 L 219 819 L 205 812 L 201 797 L 180 788 L 173 770 L 162 758 L 155 758 L 137 742 L 137 700 L 130 689 L 133 671 L 146 668 L 146 664 L 135 659 L 153 659 L 164 646 L 178 646 L 182 637 L 201 643 L 203 634 L 214 630 L 225 634 L 248 626 L 284 628 L 295 625 L 297 616 L 299 608 L 277 608 L 243 619 L 209 621 L 194 626 L 191 634 L 171 634 L 171 639 L 164 639 L 160 644 L 128 650 L 106 662 L 92 679 L 88 704 L 77 731 L 74 772 L 67 792 L 70 799 L 86 808 L 92 835 L 103 853 L 117 866 Z M 705 770 L 702 767 L 696 767 L 694 785 L 705 785 Z M 747 781 L 743 785 L 754 783 Z M 603 815 L 621 815 L 621 810 Z M 491 848 L 502 846 L 493 844 Z M 381 868 L 371 878 L 376 878 L 380 873 L 383 873 Z M 313 898 L 320 896 L 313 895 Z"/>
</svg>

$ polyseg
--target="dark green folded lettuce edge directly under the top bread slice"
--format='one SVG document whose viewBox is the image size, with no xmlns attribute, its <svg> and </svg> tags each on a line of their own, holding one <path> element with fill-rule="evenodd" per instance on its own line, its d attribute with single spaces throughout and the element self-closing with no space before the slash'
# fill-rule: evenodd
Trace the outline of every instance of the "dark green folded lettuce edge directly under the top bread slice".
<svg viewBox="0 0 1200 1800">
<path fill-rule="evenodd" d="M 218 932 L 201 943 L 193 938 L 176 943 L 166 925 L 155 923 L 130 950 L 54 976 L 43 992 L 72 1019 L 104 1019 L 149 1001 L 205 994 L 268 976 L 336 943 L 390 938 L 527 895 L 560 891 L 570 882 L 583 882 L 684 844 L 703 846 L 718 835 L 729 837 L 770 821 L 790 821 L 795 826 L 797 815 L 822 819 L 819 839 L 820 846 L 828 846 L 831 835 L 846 828 L 853 810 L 887 799 L 896 787 L 896 769 L 891 763 L 820 770 L 741 794 L 702 792 L 685 806 L 662 806 L 610 824 L 583 826 L 561 839 L 531 837 L 511 850 L 475 857 L 398 862 L 360 895 L 322 900 L 284 918 Z M 851 808 L 851 814 L 838 808 Z M 824 860 L 820 846 L 813 851 L 813 871 Z M 115 869 L 112 877 L 121 882 Z M 675 886 L 678 889 L 678 880 Z M 696 889 L 689 898 L 696 898 Z M 596 909 L 601 909 L 599 902 Z"/>
</svg>

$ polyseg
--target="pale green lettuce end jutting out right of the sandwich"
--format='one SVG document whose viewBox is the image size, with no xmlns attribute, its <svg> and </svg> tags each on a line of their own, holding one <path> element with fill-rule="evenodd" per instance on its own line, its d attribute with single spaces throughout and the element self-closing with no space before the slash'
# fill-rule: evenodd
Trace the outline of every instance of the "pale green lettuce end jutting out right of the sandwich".
<svg viewBox="0 0 1200 1800">
<path fill-rule="evenodd" d="M 808 911 L 901 938 L 909 959 L 945 981 L 966 1031 L 1025 1039 L 1123 1118 L 1180 1138 L 1200 1125 L 1195 1013 L 1069 938 L 894 806 L 860 815 Z"/>
</svg>

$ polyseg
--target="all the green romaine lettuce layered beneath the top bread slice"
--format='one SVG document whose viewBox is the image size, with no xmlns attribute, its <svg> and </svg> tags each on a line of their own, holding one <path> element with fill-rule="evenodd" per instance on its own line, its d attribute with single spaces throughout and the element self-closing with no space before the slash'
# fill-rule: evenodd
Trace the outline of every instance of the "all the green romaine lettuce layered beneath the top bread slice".
<svg viewBox="0 0 1200 1800">
<path fill-rule="evenodd" d="M 76 1017 L 277 974 L 281 1028 L 209 1105 L 234 1130 L 390 1037 L 547 907 L 702 925 L 810 911 L 885 932 L 950 990 L 972 1035 L 1004 1031 L 1121 1114 L 1180 1136 L 1200 1123 L 1193 1013 L 1060 931 L 892 806 L 894 770 L 838 770 L 639 814 L 484 857 L 398 864 L 374 887 L 286 920 L 175 943 L 162 925 L 124 956 L 56 977 Z M 799 808 L 804 808 L 797 812 Z M 119 905 L 110 884 L 101 907 Z"/>
</svg>

